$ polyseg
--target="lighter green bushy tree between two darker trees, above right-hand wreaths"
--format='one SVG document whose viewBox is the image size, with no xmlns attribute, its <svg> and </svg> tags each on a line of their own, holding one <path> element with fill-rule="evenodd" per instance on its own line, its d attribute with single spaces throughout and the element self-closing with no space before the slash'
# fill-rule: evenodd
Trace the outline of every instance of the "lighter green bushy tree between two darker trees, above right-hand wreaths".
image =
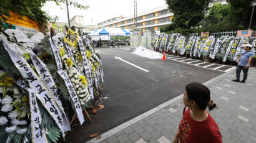
<svg viewBox="0 0 256 143">
<path fill-rule="evenodd" d="M 231 30 L 230 27 L 230 4 L 222 5 L 220 3 L 214 4 L 210 7 L 209 14 L 205 16 L 204 29 L 211 31 Z"/>
</svg>

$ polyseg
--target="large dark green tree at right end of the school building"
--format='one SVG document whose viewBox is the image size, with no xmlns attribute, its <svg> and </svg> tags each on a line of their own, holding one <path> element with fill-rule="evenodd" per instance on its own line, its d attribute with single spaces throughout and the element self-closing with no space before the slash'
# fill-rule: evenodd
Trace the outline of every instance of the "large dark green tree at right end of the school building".
<svg viewBox="0 0 256 143">
<path fill-rule="evenodd" d="M 165 0 L 171 12 L 174 13 L 172 27 L 176 32 L 187 34 L 191 27 L 197 27 L 204 18 L 210 0 Z"/>
</svg>

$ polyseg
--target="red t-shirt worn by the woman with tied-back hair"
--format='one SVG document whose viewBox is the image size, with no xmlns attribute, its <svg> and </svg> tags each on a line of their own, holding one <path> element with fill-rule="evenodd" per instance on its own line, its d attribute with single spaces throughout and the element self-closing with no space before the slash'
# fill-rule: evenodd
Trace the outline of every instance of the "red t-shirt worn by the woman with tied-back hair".
<svg viewBox="0 0 256 143">
<path fill-rule="evenodd" d="M 185 111 L 185 108 L 179 124 L 180 143 L 222 143 L 219 127 L 209 113 L 205 121 L 199 122 L 192 119 L 190 109 Z"/>
</svg>

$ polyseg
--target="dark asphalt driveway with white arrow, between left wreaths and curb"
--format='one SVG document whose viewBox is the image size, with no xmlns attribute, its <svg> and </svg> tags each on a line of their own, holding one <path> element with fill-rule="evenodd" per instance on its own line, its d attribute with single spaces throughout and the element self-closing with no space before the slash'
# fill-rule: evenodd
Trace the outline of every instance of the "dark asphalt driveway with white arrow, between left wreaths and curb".
<svg viewBox="0 0 256 143">
<path fill-rule="evenodd" d="M 101 102 L 105 108 L 97 114 L 90 114 L 82 126 L 79 121 L 72 125 L 72 131 L 65 142 L 89 141 L 89 134 L 103 134 L 120 124 L 149 111 L 184 92 L 185 85 L 194 81 L 204 83 L 222 71 L 195 67 L 174 60 L 152 60 L 139 57 L 130 48 L 96 48 L 102 58 L 104 69 Z M 149 72 L 133 67 L 115 57 L 121 57 Z"/>
</svg>

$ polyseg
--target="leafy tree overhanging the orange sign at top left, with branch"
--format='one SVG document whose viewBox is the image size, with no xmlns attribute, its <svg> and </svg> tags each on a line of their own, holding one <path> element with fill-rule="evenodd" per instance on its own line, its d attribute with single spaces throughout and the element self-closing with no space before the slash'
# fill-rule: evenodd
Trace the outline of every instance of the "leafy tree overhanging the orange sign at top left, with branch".
<svg viewBox="0 0 256 143">
<path fill-rule="evenodd" d="M 7 20 L 7 17 L 11 16 L 10 11 L 16 12 L 21 16 L 27 16 L 39 24 L 43 24 L 46 21 L 54 21 L 54 18 L 52 19 L 45 11 L 41 10 L 42 6 L 44 6 L 47 1 L 54 1 L 56 2 L 57 6 L 60 6 L 61 3 L 66 3 L 66 0 L 1 0 L 0 30 L 1 25 L 4 24 L 4 22 Z M 89 6 L 83 6 L 70 0 L 67 3 L 71 6 L 78 7 L 79 9 L 89 8 Z"/>
</svg>

